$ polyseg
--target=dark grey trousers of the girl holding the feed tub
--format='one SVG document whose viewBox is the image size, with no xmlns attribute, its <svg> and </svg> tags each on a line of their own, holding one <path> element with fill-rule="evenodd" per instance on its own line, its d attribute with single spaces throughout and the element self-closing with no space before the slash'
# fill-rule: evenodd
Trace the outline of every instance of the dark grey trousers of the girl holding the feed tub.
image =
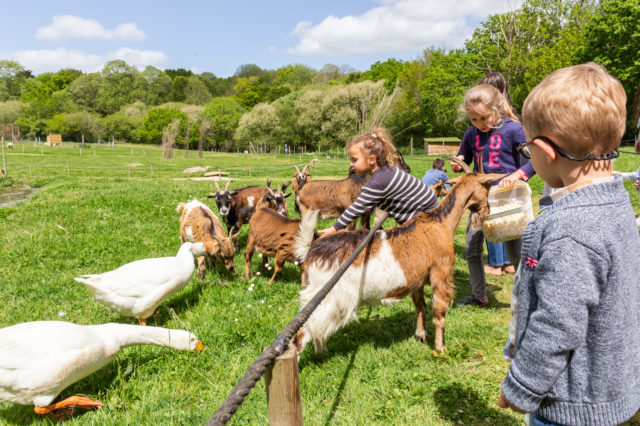
<svg viewBox="0 0 640 426">
<path fill-rule="evenodd" d="M 484 248 L 484 233 L 482 228 L 473 231 L 467 222 L 467 242 L 465 247 L 465 257 L 469 268 L 469 278 L 471 279 L 471 289 L 476 298 L 484 299 L 486 296 L 487 282 L 484 279 L 484 265 L 482 264 L 482 251 Z M 517 269 L 520 263 L 520 251 L 522 249 L 522 238 L 505 241 L 504 247 L 511 264 Z"/>
</svg>

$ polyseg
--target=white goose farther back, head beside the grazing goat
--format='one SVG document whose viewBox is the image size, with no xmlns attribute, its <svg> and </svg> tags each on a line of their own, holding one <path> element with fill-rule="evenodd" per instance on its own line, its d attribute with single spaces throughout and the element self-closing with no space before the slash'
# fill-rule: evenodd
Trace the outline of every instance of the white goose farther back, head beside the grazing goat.
<svg viewBox="0 0 640 426">
<path fill-rule="evenodd" d="M 202 243 L 183 243 L 175 257 L 156 257 L 127 263 L 102 274 L 75 278 L 95 299 L 121 315 L 146 325 L 156 307 L 187 285 L 195 270 L 194 257 L 204 256 Z"/>
</svg>

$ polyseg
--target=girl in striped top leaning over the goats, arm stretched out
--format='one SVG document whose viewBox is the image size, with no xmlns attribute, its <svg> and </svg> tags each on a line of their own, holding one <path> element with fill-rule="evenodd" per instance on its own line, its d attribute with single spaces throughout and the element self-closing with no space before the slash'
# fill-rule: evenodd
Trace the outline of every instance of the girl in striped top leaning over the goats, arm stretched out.
<svg viewBox="0 0 640 426">
<path fill-rule="evenodd" d="M 398 223 L 404 223 L 418 212 L 429 211 L 438 205 L 436 194 L 427 185 L 397 167 L 389 167 L 395 147 L 386 130 L 375 129 L 372 133 L 356 136 L 347 147 L 351 169 L 370 178 L 353 204 L 332 227 L 318 231 L 320 235 L 346 228 L 374 207 L 389 212 Z"/>
</svg>

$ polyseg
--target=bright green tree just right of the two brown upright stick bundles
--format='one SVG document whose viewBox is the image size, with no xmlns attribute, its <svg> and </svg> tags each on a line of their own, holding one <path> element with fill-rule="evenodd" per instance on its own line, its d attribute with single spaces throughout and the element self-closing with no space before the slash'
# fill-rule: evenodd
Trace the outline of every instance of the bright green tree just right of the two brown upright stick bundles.
<svg viewBox="0 0 640 426">
<path fill-rule="evenodd" d="M 228 150 L 245 109 L 233 98 L 213 98 L 201 113 L 211 126 L 210 143 L 216 149 Z"/>
</svg>

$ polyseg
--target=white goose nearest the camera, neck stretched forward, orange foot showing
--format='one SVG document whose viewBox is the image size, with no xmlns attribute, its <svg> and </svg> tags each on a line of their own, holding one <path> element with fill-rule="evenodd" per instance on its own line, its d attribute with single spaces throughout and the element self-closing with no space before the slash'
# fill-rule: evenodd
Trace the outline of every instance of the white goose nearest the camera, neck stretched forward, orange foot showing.
<svg viewBox="0 0 640 426">
<path fill-rule="evenodd" d="M 193 334 L 161 327 L 62 321 L 16 324 L 0 329 L 0 400 L 34 404 L 36 413 L 58 418 L 75 407 L 102 407 L 99 401 L 80 396 L 49 404 L 64 388 L 114 359 L 120 348 L 136 344 L 203 348 Z"/>
</svg>

